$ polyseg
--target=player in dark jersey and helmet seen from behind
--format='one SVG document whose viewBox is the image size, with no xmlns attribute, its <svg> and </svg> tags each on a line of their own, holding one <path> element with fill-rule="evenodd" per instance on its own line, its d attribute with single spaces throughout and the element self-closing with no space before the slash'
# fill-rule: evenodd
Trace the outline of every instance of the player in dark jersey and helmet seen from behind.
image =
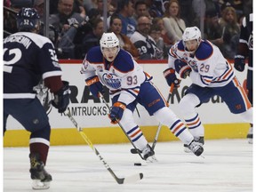
<svg viewBox="0 0 256 192">
<path fill-rule="evenodd" d="M 50 147 L 49 119 L 33 91 L 44 80 L 54 95 L 52 105 L 62 113 L 69 103 L 68 82 L 50 39 L 40 36 L 39 15 L 32 8 L 17 14 L 19 32 L 4 38 L 4 132 L 8 116 L 13 116 L 28 132 L 30 176 L 33 189 L 50 188 L 51 174 L 45 171 Z M 15 156 L 13 156 L 15 158 Z"/>
</svg>

